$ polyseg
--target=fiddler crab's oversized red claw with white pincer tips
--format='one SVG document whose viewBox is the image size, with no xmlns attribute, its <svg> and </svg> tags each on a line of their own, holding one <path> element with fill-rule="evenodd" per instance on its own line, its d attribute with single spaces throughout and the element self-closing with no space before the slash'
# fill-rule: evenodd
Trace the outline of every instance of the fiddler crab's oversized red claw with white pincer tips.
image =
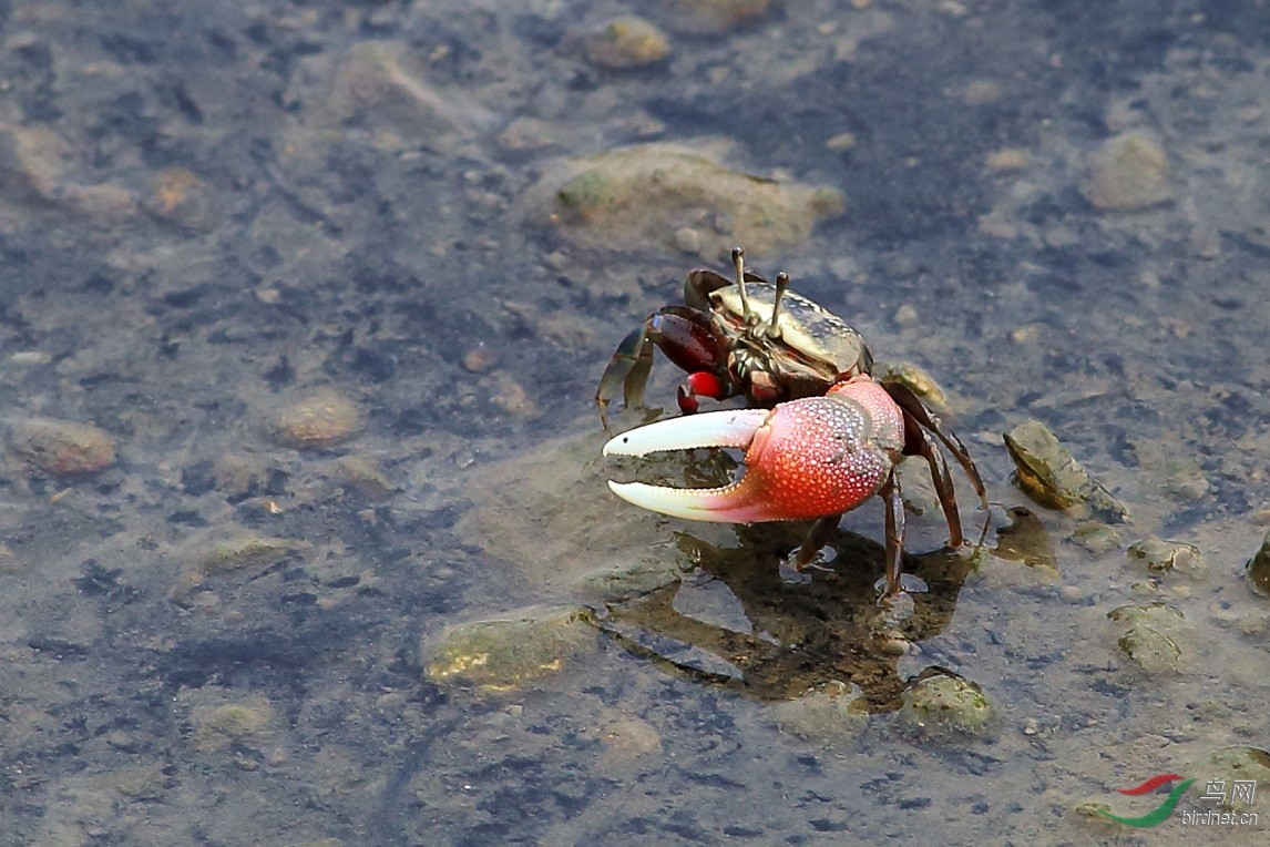
<svg viewBox="0 0 1270 847">
<path fill-rule="evenodd" d="M 715 489 L 608 483 L 620 498 L 692 521 L 753 523 L 823 518 L 860 505 L 890 472 L 874 418 L 861 403 L 820 396 L 771 411 L 712 411 L 662 420 L 624 433 L 605 455 L 643 456 L 693 447 L 745 448 L 745 475 Z"/>
</svg>

